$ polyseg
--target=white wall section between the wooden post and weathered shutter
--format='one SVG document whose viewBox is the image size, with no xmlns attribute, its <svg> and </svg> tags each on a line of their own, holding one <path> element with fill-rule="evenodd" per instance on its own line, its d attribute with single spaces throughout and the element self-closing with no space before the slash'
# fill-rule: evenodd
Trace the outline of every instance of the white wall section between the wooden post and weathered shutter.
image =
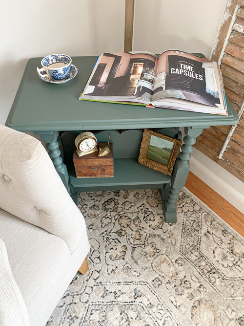
<svg viewBox="0 0 244 326">
<path fill-rule="evenodd" d="M 133 50 L 179 49 L 209 57 L 225 4 L 226 0 L 136 0 Z"/>
</svg>

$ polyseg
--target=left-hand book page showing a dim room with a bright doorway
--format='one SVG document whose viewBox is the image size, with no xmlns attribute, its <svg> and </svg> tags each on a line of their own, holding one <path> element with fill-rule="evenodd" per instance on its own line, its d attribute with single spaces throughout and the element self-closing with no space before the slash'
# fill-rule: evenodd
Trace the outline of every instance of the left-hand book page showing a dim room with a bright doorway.
<svg viewBox="0 0 244 326">
<path fill-rule="evenodd" d="M 151 53 L 103 53 L 80 99 L 150 103 L 158 58 Z"/>
</svg>

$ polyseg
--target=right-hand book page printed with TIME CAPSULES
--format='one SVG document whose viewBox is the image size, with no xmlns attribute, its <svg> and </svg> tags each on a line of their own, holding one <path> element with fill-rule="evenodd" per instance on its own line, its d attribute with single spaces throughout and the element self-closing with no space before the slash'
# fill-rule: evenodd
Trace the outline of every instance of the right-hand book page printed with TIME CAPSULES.
<svg viewBox="0 0 244 326">
<path fill-rule="evenodd" d="M 178 98 L 220 107 L 220 95 L 211 60 L 179 50 L 168 50 L 160 55 L 152 102 Z"/>
</svg>

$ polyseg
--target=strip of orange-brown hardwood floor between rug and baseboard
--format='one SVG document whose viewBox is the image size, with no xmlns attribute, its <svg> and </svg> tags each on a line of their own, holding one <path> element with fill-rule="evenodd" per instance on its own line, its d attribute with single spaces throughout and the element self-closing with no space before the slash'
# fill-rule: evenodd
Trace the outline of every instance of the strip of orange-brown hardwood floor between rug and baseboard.
<svg viewBox="0 0 244 326">
<path fill-rule="evenodd" d="M 191 172 L 185 187 L 244 237 L 244 214 Z"/>
</svg>

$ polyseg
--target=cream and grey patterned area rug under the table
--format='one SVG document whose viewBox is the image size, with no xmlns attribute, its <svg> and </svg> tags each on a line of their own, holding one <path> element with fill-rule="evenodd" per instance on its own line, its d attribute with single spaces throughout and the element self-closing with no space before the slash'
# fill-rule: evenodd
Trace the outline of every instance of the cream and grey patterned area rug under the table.
<svg viewBox="0 0 244 326">
<path fill-rule="evenodd" d="M 158 190 L 81 193 L 90 269 L 48 326 L 244 326 L 244 239 L 187 189 L 178 222 Z"/>
</svg>

